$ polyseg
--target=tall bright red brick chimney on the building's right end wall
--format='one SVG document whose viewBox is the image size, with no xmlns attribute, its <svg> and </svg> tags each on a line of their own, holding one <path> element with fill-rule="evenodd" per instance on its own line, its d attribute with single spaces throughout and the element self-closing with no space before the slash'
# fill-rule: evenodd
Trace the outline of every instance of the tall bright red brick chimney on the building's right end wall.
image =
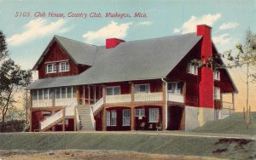
<svg viewBox="0 0 256 160">
<path fill-rule="evenodd" d="M 197 26 L 197 36 L 202 36 L 201 40 L 201 60 L 208 60 L 212 56 L 212 27 L 207 25 Z M 214 107 L 214 81 L 211 67 L 202 66 L 199 69 L 199 106 Z"/>
</svg>

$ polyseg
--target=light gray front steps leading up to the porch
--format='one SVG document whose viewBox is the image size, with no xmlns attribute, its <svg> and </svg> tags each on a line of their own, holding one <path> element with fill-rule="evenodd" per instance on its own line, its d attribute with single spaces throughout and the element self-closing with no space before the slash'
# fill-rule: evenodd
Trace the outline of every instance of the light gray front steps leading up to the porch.
<svg viewBox="0 0 256 160">
<path fill-rule="evenodd" d="M 79 111 L 80 130 L 95 130 L 90 119 L 90 106 L 77 106 Z"/>
</svg>

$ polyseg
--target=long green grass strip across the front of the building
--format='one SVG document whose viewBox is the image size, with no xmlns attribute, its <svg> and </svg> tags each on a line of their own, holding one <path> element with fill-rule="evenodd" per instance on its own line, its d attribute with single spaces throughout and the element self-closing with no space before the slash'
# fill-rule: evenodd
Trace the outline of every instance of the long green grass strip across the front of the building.
<svg viewBox="0 0 256 160">
<path fill-rule="evenodd" d="M 236 159 L 256 157 L 255 140 L 241 143 L 161 134 L 14 133 L 0 134 L 0 144 L 0 150 L 118 150 Z"/>
</svg>

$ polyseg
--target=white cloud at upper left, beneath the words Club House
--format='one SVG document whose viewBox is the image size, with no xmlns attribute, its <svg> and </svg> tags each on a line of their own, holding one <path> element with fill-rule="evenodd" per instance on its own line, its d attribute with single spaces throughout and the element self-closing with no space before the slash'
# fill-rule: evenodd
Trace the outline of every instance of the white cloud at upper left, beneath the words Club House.
<svg viewBox="0 0 256 160">
<path fill-rule="evenodd" d="M 31 42 L 39 37 L 45 37 L 52 33 L 63 33 L 70 30 L 64 28 L 67 20 L 56 20 L 55 22 L 48 22 L 45 19 L 39 18 L 37 20 L 29 21 L 23 28 L 25 31 L 15 34 L 7 38 L 9 45 L 18 46 L 23 43 Z"/>
</svg>

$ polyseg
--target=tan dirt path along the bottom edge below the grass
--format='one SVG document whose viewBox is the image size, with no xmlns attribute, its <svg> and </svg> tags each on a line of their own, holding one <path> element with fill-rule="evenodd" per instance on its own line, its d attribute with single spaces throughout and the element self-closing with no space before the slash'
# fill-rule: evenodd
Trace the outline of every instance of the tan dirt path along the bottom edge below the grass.
<svg viewBox="0 0 256 160">
<path fill-rule="evenodd" d="M 68 160 L 68 159 L 87 159 L 87 160 L 156 160 L 156 159 L 176 159 L 176 160 L 218 160 L 215 157 L 195 157 L 179 155 L 160 155 L 139 153 L 135 151 L 89 151 L 89 150 L 61 150 L 61 151 L 0 151 L 1 160 Z"/>
</svg>

